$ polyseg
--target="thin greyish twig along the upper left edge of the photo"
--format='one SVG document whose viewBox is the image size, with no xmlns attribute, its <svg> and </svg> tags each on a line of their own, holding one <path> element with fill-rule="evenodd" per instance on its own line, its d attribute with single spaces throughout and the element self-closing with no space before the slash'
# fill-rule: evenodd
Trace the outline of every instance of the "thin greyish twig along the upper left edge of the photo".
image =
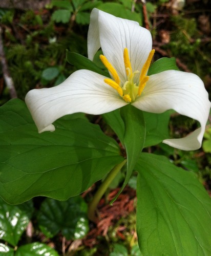
<svg viewBox="0 0 211 256">
<path fill-rule="evenodd" d="M 9 69 L 8 69 L 8 66 L 7 66 L 6 57 L 5 57 L 5 53 L 4 53 L 1 26 L 0 26 L 0 60 L 1 60 L 1 63 L 2 63 L 2 72 L 3 72 L 4 79 L 5 79 L 5 83 L 6 83 L 7 88 L 9 89 L 9 92 L 10 92 L 10 97 L 12 99 L 17 98 L 16 90 L 15 90 L 14 83 L 13 83 L 13 79 L 10 76 Z"/>
</svg>

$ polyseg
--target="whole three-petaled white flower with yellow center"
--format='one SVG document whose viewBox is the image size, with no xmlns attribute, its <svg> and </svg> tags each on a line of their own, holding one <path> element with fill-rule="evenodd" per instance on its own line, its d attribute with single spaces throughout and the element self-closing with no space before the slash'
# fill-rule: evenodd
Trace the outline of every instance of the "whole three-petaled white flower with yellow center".
<svg viewBox="0 0 211 256">
<path fill-rule="evenodd" d="M 151 59 L 152 36 L 132 20 L 117 18 L 94 9 L 88 32 L 88 57 L 100 56 L 111 78 L 89 70 L 78 70 L 59 86 L 35 89 L 26 103 L 39 133 L 54 131 L 56 119 L 72 113 L 99 115 L 126 104 L 151 112 L 173 109 L 199 121 L 201 127 L 182 139 L 163 142 L 182 150 L 201 146 L 210 102 L 202 80 L 194 74 L 168 70 L 147 76 Z"/>
</svg>

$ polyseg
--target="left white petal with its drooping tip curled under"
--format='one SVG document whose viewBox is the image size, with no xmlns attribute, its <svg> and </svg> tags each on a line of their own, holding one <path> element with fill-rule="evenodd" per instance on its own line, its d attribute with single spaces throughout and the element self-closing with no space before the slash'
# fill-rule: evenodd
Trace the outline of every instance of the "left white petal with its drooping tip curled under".
<svg viewBox="0 0 211 256">
<path fill-rule="evenodd" d="M 54 131 L 52 123 L 68 114 L 99 115 L 126 105 L 118 93 L 104 83 L 104 78 L 89 70 L 78 70 L 59 86 L 28 92 L 25 101 L 39 133 Z"/>
</svg>

